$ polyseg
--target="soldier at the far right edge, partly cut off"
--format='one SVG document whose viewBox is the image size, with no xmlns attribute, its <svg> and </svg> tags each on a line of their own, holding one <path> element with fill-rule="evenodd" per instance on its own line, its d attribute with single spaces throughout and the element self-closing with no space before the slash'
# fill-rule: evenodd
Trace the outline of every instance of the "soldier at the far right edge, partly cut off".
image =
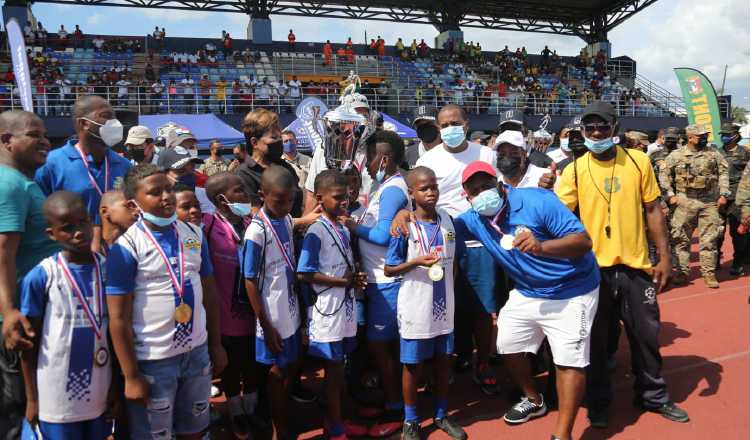
<svg viewBox="0 0 750 440">
<path fill-rule="evenodd" d="M 742 136 L 740 135 L 739 127 L 731 123 L 722 124 L 721 141 L 724 143 L 722 152 L 729 165 L 729 192 L 731 195 L 728 198 L 727 206 L 719 211 L 719 214 L 723 217 L 724 224 L 729 223 L 729 234 L 732 236 L 734 256 L 732 259 L 732 268 L 729 269 L 729 273 L 732 275 L 742 275 L 744 272 L 744 259 L 747 256 L 748 242 L 750 241 L 747 236 L 737 232 L 737 228 L 740 225 L 740 209 L 735 203 L 735 194 L 737 193 L 737 185 L 740 183 L 742 172 L 748 161 L 750 161 L 750 151 L 738 145 L 740 139 L 742 139 Z M 719 252 L 721 252 L 723 242 L 724 234 L 721 233 L 719 234 Z"/>
</svg>

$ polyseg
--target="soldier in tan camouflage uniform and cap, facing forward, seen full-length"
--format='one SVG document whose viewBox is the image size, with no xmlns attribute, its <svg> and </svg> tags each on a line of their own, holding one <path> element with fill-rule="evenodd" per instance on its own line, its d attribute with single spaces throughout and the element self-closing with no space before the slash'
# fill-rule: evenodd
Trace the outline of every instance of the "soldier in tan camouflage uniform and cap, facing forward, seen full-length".
<svg viewBox="0 0 750 440">
<path fill-rule="evenodd" d="M 690 241 L 696 223 L 700 234 L 701 275 L 706 286 L 717 289 L 715 263 L 721 229 L 719 209 L 727 204 L 729 172 L 724 156 L 708 147 L 708 132 L 699 125 L 689 125 L 686 146 L 673 151 L 664 161 L 659 181 L 667 202 L 675 207 L 671 234 L 678 268 L 673 282 L 687 283 L 690 264 Z"/>
</svg>

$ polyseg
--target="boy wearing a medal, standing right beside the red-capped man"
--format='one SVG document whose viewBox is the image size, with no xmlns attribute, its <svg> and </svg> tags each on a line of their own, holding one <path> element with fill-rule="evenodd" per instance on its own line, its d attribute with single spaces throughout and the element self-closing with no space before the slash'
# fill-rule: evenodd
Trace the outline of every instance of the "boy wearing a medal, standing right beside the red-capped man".
<svg viewBox="0 0 750 440">
<path fill-rule="evenodd" d="M 416 204 L 416 222 L 409 237 L 391 238 L 385 273 L 403 276 L 398 294 L 398 329 L 403 368 L 404 427 L 402 438 L 419 440 L 417 388 L 424 362 L 432 360 L 435 375 L 435 425 L 451 438 L 466 432 L 448 418 L 450 358 L 453 354 L 456 234 L 453 221 L 436 209 L 435 173 L 426 167 L 409 172 L 409 195 Z"/>
</svg>

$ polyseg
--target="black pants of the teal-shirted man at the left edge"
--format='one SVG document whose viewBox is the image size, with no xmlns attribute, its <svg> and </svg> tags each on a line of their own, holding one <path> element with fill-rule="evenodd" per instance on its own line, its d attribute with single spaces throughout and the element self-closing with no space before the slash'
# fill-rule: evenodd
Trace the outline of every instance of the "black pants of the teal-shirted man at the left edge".
<svg viewBox="0 0 750 440">
<path fill-rule="evenodd" d="M 21 437 L 26 396 L 21 374 L 21 356 L 5 348 L 0 334 L 0 440 Z"/>
</svg>

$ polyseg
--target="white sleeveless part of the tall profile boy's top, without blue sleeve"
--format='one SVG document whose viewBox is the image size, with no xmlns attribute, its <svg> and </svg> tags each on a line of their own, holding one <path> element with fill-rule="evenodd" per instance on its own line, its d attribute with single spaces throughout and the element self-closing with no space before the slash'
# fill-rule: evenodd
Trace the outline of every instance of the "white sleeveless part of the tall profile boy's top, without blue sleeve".
<svg viewBox="0 0 750 440">
<path fill-rule="evenodd" d="M 403 192 L 406 200 L 409 200 L 409 189 L 406 185 L 406 180 L 401 175 L 396 175 L 383 182 L 378 188 L 375 194 L 370 197 L 370 204 L 367 205 L 367 210 L 362 216 L 361 225 L 374 228 L 378 224 L 378 213 L 380 211 L 380 199 L 383 192 L 388 189 L 395 187 Z M 407 208 L 411 208 L 407 204 Z M 387 277 L 383 272 L 385 268 L 385 254 L 388 251 L 386 246 L 379 246 L 374 243 L 360 238 L 359 239 L 359 256 L 362 261 L 362 269 L 367 272 L 368 283 L 392 283 L 397 278 Z"/>
</svg>

